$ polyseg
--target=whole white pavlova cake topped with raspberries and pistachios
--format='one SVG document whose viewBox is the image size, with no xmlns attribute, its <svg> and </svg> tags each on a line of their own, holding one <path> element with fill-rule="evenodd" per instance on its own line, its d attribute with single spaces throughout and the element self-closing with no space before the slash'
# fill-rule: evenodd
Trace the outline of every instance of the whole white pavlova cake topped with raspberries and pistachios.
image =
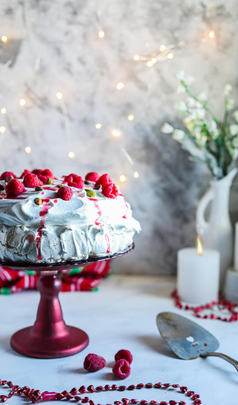
<svg viewBox="0 0 238 405">
<path fill-rule="evenodd" d="M 108 174 L 56 178 L 49 169 L 0 176 L 0 261 L 64 262 L 110 256 L 140 224 Z"/>
</svg>

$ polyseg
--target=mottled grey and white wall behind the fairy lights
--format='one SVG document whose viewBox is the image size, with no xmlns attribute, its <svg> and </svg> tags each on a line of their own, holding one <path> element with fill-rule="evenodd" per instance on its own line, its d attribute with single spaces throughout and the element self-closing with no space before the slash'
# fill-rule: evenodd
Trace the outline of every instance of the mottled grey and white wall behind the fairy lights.
<svg viewBox="0 0 238 405">
<path fill-rule="evenodd" d="M 208 88 L 210 106 L 222 116 L 223 86 L 231 83 L 235 94 L 238 87 L 237 16 L 235 0 L 2 0 L 0 36 L 8 41 L 0 41 L 0 108 L 7 109 L 0 114 L 6 128 L 0 172 L 96 170 L 116 183 L 125 175 L 121 190 L 142 233 L 134 254 L 113 265 L 124 272 L 174 273 L 176 251 L 194 245 L 195 208 L 210 175 L 160 127 L 164 121 L 180 125 L 173 106 L 181 98 L 174 79 L 181 69 L 196 78 L 194 91 Z M 172 50 L 174 58 L 153 68 L 133 61 L 136 54 L 179 41 L 185 45 Z M 131 113 L 133 121 L 127 119 Z M 120 138 L 113 138 L 113 128 L 121 130 Z M 231 194 L 233 221 L 237 201 L 238 179 Z"/>
</svg>

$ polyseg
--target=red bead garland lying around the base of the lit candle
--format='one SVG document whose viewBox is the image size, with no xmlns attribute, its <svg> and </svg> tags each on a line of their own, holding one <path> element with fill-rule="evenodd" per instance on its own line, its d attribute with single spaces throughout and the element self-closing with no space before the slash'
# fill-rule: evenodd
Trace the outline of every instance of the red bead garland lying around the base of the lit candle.
<svg viewBox="0 0 238 405">
<path fill-rule="evenodd" d="M 238 306 L 238 304 L 226 301 L 224 298 L 219 297 L 219 301 L 212 301 L 211 303 L 200 305 L 199 307 L 192 307 L 190 305 L 182 305 L 180 296 L 177 294 L 177 290 L 174 290 L 171 293 L 172 298 L 174 298 L 174 304 L 177 308 L 179 309 L 185 309 L 185 311 L 191 310 L 193 311 L 194 315 L 197 318 L 203 318 L 203 319 L 218 319 L 220 321 L 224 322 L 235 322 L 238 320 L 238 312 L 235 311 L 234 307 Z M 211 315 L 201 315 L 200 312 L 202 312 L 204 309 L 211 309 L 214 305 L 217 305 L 219 307 L 220 311 L 223 311 L 224 309 L 228 310 L 232 315 L 229 319 L 221 318 L 220 316 L 216 316 L 214 314 Z"/>
</svg>

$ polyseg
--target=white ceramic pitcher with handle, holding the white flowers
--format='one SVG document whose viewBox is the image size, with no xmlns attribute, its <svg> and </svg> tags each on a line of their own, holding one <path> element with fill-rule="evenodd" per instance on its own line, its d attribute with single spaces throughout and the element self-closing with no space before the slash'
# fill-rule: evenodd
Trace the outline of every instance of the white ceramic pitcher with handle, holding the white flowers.
<svg viewBox="0 0 238 405">
<path fill-rule="evenodd" d="M 220 286 L 223 284 L 225 270 L 233 261 L 233 231 L 229 217 L 229 193 L 237 173 L 234 168 L 221 180 L 211 182 L 211 187 L 200 200 L 196 212 L 198 233 L 201 234 L 204 249 L 216 249 L 221 254 Z M 204 213 L 208 203 L 211 210 L 208 222 Z"/>
</svg>

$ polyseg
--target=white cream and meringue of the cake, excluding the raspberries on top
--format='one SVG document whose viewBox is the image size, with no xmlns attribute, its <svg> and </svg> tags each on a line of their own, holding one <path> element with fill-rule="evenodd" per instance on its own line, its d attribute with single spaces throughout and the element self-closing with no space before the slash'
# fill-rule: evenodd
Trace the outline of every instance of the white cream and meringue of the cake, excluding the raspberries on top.
<svg viewBox="0 0 238 405">
<path fill-rule="evenodd" d="M 18 197 L 0 192 L 0 260 L 55 262 L 106 256 L 125 249 L 140 224 L 132 217 L 122 194 L 106 198 L 100 190 L 89 198 L 85 190 L 71 187 L 69 201 L 57 198 L 57 184 L 42 191 L 26 188 Z M 5 187 L 5 182 L 0 181 Z M 93 188 L 85 185 L 84 189 Z M 36 205 L 41 198 L 42 205 Z"/>
</svg>

